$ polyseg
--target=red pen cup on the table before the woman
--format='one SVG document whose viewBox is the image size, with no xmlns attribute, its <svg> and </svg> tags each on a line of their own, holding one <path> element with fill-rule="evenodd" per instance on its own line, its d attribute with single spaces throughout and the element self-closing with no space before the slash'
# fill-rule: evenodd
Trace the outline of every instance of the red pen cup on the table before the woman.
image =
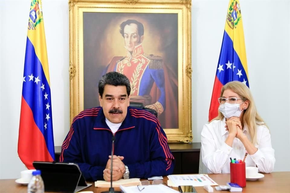
<svg viewBox="0 0 290 193">
<path fill-rule="evenodd" d="M 236 183 L 240 187 L 246 186 L 246 164 L 230 163 L 230 182 Z"/>
</svg>

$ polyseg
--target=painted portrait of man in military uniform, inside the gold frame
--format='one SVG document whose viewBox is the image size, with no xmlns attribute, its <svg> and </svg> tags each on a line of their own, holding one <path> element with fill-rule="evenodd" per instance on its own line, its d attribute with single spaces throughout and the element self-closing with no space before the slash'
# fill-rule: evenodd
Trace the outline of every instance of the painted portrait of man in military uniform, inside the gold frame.
<svg viewBox="0 0 290 193">
<path fill-rule="evenodd" d="M 83 15 L 84 108 L 98 106 L 98 79 L 117 71 L 130 80 L 130 101 L 156 110 L 163 128 L 178 128 L 177 14 L 99 14 Z"/>
</svg>

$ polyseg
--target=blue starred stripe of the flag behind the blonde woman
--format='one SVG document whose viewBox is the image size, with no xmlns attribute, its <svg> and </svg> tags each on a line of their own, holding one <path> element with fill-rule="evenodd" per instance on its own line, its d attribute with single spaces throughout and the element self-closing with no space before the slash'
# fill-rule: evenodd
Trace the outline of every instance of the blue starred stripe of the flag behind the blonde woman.
<svg viewBox="0 0 290 193">
<path fill-rule="evenodd" d="M 231 68 L 227 68 L 226 64 L 228 62 L 232 64 Z M 223 66 L 221 67 L 221 65 Z M 234 71 L 233 66 L 235 66 Z M 237 75 L 239 71 L 240 74 L 242 74 L 240 76 Z M 226 31 L 224 31 L 223 43 L 221 45 L 221 53 L 218 59 L 218 69 L 216 75 L 223 85 L 227 84 L 230 81 L 247 81 L 246 85 L 249 87 L 249 81 L 246 71 L 243 68 L 237 52 L 234 50 L 233 41 L 230 39 L 230 36 L 228 36 Z"/>
</svg>

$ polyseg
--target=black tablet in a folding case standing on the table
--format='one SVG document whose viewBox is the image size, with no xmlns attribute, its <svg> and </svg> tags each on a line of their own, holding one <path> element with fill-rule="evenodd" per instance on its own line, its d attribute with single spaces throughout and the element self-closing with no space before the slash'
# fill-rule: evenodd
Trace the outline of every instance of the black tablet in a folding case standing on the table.
<svg viewBox="0 0 290 193">
<path fill-rule="evenodd" d="M 44 191 L 74 193 L 92 185 L 85 182 L 75 163 L 34 161 L 33 166 L 41 171 Z"/>
</svg>

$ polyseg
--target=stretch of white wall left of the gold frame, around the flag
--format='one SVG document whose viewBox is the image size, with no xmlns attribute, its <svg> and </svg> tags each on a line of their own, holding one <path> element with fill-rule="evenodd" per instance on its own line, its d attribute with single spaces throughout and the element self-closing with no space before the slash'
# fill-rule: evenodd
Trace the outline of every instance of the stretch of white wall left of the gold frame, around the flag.
<svg viewBox="0 0 290 193">
<path fill-rule="evenodd" d="M 30 2 L 0 0 L 0 179 L 20 178 L 25 169 L 17 144 Z M 70 127 L 69 7 L 67 0 L 42 0 L 42 4 L 54 144 L 60 146 Z"/>
</svg>

